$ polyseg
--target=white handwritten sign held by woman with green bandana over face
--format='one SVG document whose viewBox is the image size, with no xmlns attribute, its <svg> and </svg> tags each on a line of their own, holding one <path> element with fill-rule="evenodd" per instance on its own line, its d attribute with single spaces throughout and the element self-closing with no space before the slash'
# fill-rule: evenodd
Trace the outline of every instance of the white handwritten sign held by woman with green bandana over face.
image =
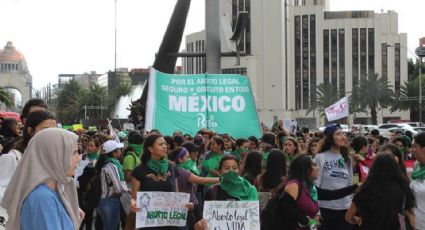
<svg viewBox="0 0 425 230">
<path fill-rule="evenodd" d="M 208 230 L 259 230 L 258 201 L 205 201 Z"/>
</svg>

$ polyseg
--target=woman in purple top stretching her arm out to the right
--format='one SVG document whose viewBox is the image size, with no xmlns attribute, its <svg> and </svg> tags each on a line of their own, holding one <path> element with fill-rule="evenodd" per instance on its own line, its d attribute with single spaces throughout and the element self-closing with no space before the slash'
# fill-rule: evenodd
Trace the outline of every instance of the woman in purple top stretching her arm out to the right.
<svg viewBox="0 0 425 230">
<path fill-rule="evenodd" d="M 219 178 L 205 178 L 197 176 L 196 163 L 193 164 L 189 151 L 184 147 L 178 147 L 170 152 L 170 160 L 176 163 L 179 177 L 177 178 L 180 192 L 190 194 L 190 202 L 195 208 L 189 211 L 187 218 L 187 227 L 193 229 L 196 220 L 200 219 L 201 210 L 199 210 L 198 200 L 196 199 L 197 184 L 216 184 L 220 182 Z"/>
</svg>

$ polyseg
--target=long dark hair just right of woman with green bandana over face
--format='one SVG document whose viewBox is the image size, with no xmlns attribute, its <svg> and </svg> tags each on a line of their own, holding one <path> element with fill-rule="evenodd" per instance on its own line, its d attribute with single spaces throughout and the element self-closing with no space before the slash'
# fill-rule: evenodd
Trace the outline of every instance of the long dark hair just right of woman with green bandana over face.
<svg viewBox="0 0 425 230">
<path fill-rule="evenodd" d="M 282 182 L 281 178 L 286 176 L 286 160 L 282 150 L 272 149 L 267 158 L 267 166 L 262 176 L 261 186 L 263 189 L 275 189 Z"/>
</svg>

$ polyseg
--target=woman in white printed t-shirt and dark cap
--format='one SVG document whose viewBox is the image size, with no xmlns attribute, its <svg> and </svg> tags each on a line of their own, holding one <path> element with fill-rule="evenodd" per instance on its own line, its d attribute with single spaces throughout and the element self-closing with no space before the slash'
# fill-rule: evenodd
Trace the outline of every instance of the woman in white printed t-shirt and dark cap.
<svg viewBox="0 0 425 230">
<path fill-rule="evenodd" d="M 339 124 L 329 124 L 324 130 L 324 143 L 315 158 L 319 175 L 315 184 L 318 188 L 336 190 L 353 184 L 353 163 L 348 156 L 346 136 Z M 321 230 L 350 230 L 352 225 L 345 221 L 351 197 L 323 200 L 319 203 L 323 217 Z"/>
</svg>

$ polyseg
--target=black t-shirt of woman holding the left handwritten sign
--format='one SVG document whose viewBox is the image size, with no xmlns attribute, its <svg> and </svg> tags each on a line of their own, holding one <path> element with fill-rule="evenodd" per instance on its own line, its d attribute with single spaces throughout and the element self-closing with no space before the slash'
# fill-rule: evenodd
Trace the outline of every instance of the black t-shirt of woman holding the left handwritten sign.
<svg viewBox="0 0 425 230">
<path fill-rule="evenodd" d="M 140 181 L 140 191 L 175 192 L 179 173 L 174 164 L 168 165 L 168 172 L 164 176 L 158 175 L 147 164 L 141 164 L 133 170 L 131 176 Z"/>
</svg>

